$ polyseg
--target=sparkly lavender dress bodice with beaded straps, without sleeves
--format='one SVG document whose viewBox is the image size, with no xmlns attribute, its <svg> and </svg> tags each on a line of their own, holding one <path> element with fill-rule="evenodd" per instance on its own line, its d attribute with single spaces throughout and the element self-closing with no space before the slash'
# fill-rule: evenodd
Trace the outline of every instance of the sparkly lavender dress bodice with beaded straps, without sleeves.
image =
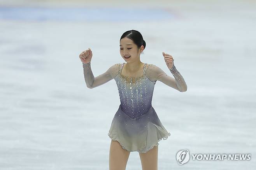
<svg viewBox="0 0 256 170">
<path fill-rule="evenodd" d="M 121 64 L 114 80 L 116 81 L 119 91 L 121 109 L 134 119 L 147 113 L 148 109 L 151 107 L 156 82 L 152 82 L 147 78 L 147 63 L 144 64 L 143 75 L 139 77 L 122 75 L 123 66 L 124 63 Z"/>
</svg>

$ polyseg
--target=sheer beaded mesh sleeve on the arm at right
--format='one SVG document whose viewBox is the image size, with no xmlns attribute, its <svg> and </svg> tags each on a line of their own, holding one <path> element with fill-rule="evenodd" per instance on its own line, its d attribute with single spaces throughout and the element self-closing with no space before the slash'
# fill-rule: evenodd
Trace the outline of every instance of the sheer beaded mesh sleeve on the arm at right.
<svg viewBox="0 0 256 170">
<path fill-rule="evenodd" d="M 166 85 L 175 88 L 176 90 L 179 90 L 180 92 L 186 92 L 187 90 L 187 85 L 182 77 L 182 75 L 179 73 L 179 71 L 176 69 L 176 67 L 172 66 L 171 69 L 169 69 L 174 78 L 171 76 L 167 75 L 161 68 L 154 64 L 149 64 L 147 68 L 147 77 L 151 82 L 156 82 L 159 80 L 160 82 L 165 83 Z"/>
</svg>

